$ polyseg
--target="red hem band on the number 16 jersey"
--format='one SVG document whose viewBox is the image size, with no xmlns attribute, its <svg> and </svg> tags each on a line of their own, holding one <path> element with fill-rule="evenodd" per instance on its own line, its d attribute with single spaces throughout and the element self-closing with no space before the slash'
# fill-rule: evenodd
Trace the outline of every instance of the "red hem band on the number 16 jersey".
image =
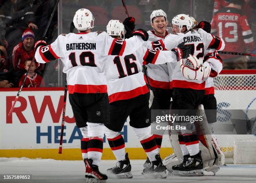
<svg viewBox="0 0 256 183">
<path fill-rule="evenodd" d="M 120 91 L 120 92 L 111 94 L 110 96 L 108 96 L 108 99 L 109 99 L 109 103 L 111 103 L 118 100 L 132 99 L 134 97 L 146 94 L 148 92 L 149 92 L 148 87 L 144 85 L 130 91 Z"/>
</svg>

